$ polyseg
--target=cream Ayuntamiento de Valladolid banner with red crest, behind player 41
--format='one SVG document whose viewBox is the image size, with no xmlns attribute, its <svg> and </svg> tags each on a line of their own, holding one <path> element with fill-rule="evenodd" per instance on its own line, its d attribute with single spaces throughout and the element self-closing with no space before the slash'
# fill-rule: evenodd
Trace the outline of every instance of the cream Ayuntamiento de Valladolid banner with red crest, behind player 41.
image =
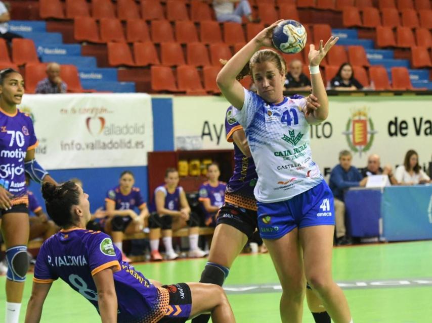
<svg viewBox="0 0 432 323">
<path fill-rule="evenodd" d="M 229 103 L 223 97 L 175 97 L 174 134 L 177 149 L 229 149 L 224 118 Z M 419 154 L 422 166 L 432 155 L 430 96 L 330 97 L 327 120 L 310 127 L 313 158 L 328 175 L 338 153 L 353 153 L 353 165 L 366 167 L 377 153 L 381 166 L 403 163 L 407 150 Z"/>
</svg>

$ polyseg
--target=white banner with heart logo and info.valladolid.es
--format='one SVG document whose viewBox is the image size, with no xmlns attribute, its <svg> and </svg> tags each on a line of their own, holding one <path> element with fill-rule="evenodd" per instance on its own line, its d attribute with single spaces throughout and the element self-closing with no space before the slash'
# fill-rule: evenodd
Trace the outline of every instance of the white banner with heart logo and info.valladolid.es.
<svg viewBox="0 0 432 323">
<path fill-rule="evenodd" d="M 146 166 L 153 150 L 148 94 L 26 94 L 36 158 L 48 170 Z"/>
</svg>

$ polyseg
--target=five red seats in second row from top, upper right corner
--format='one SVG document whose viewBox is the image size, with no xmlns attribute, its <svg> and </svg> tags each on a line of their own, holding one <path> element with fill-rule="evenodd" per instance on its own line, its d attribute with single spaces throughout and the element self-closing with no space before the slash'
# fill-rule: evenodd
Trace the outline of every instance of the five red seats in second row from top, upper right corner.
<svg viewBox="0 0 432 323">
<path fill-rule="evenodd" d="M 362 16 L 362 17 L 361 17 Z M 424 27 L 432 28 L 432 10 L 422 10 L 417 13 L 413 9 L 404 9 L 401 13 L 395 8 L 382 9 L 381 13 L 376 8 L 365 8 L 363 14 L 354 7 L 344 8 L 342 11 L 342 24 L 344 27 L 375 28 L 386 27 Z"/>
</svg>

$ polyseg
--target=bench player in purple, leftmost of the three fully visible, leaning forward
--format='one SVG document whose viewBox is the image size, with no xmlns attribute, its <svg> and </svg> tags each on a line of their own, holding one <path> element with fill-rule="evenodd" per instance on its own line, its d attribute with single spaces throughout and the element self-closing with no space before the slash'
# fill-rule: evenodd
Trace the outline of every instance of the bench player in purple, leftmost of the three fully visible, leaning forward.
<svg viewBox="0 0 432 323">
<path fill-rule="evenodd" d="M 140 189 L 135 187 L 134 184 L 134 174 L 131 171 L 124 171 L 120 175 L 119 185 L 110 189 L 105 198 L 106 214 L 109 217 L 105 230 L 111 235 L 113 243 L 120 251 L 123 247 L 124 234 L 143 232 L 143 229 L 149 223 L 150 214 L 147 204 L 144 202 Z M 140 214 L 134 211 L 135 208 L 140 210 Z M 150 227 L 152 228 L 153 225 L 150 225 Z M 150 245 L 157 246 L 155 249 L 152 248 L 151 251 L 153 260 L 162 260 L 158 251 L 159 234 L 160 231 L 157 228 L 150 229 Z M 127 259 L 124 254 L 123 258 Z"/>
</svg>

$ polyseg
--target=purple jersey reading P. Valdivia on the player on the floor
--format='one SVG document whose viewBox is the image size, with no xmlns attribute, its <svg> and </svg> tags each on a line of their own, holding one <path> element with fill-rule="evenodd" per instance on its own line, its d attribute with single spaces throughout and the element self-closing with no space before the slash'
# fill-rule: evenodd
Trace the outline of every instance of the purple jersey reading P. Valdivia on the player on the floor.
<svg viewBox="0 0 432 323">
<path fill-rule="evenodd" d="M 169 295 L 121 260 L 120 250 L 103 232 L 61 230 L 44 242 L 37 255 L 33 282 L 50 284 L 58 278 L 87 298 L 99 311 L 93 276 L 112 268 L 120 322 L 157 322 L 164 316 Z"/>
</svg>

